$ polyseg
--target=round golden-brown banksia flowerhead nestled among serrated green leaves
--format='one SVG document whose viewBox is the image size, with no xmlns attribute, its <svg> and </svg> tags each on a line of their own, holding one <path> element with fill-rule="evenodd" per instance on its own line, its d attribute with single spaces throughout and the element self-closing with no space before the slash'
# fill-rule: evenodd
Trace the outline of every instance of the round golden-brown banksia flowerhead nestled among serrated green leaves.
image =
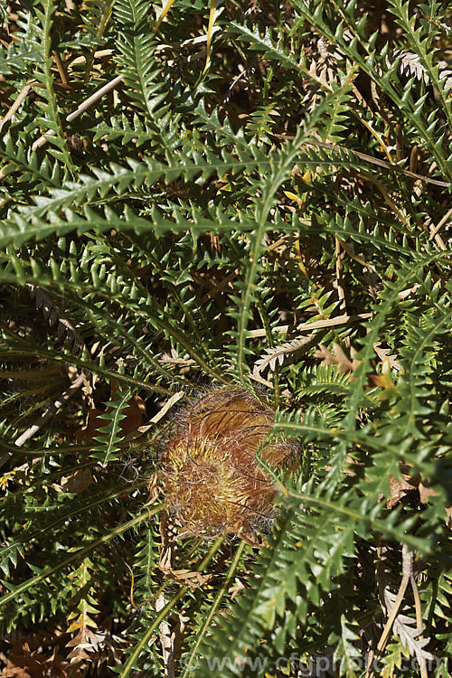
<svg viewBox="0 0 452 678">
<path fill-rule="evenodd" d="M 230 387 L 181 413 L 161 461 L 166 506 L 186 532 L 253 539 L 271 520 L 276 488 L 256 452 L 268 465 L 282 466 L 297 450 L 294 440 L 266 442 L 273 423 L 273 410 Z"/>
</svg>

